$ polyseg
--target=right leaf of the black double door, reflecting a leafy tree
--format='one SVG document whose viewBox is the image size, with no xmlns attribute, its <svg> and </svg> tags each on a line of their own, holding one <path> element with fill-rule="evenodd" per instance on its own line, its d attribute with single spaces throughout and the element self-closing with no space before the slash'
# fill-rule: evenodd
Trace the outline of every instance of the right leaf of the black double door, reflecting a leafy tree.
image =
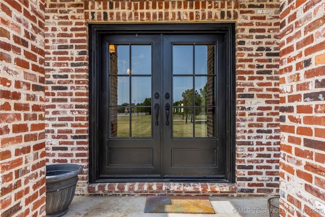
<svg viewBox="0 0 325 217">
<path fill-rule="evenodd" d="M 173 111 L 163 121 L 172 123 L 163 131 L 164 177 L 225 177 L 225 81 L 216 73 L 224 72 L 223 37 L 166 35 L 163 44 L 164 92 L 172 96 L 164 104 Z"/>
</svg>

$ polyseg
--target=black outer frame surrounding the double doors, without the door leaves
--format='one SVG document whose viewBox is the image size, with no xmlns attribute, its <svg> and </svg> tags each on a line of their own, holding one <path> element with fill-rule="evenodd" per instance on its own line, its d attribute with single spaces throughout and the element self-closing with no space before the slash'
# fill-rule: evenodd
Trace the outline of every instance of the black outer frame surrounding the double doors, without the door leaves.
<svg viewBox="0 0 325 217">
<path fill-rule="evenodd" d="M 172 34 L 223 34 L 226 59 L 226 179 L 209 179 L 207 182 L 235 182 L 236 159 L 236 73 L 235 73 L 235 23 L 186 23 L 186 24 L 89 24 L 89 183 L 111 182 L 99 178 L 99 41 L 103 34 L 111 33 L 172 33 Z M 114 179 L 113 182 L 153 180 Z M 156 181 L 156 180 L 155 180 Z M 159 181 L 175 181 L 159 179 Z M 178 180 L 179 181 L 179 180 Z M 196 181 L 196 180 L 186 180 Z M 185 180 L 184 180 L 185 182 Z M 200 182 L 205 180 L 200 179 Z"/>
</svg>

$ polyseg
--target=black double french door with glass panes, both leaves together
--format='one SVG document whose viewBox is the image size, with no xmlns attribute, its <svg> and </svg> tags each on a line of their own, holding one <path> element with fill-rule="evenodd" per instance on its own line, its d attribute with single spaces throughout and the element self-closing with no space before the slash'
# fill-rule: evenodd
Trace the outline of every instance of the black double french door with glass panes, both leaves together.
<svg viewBox="0 0 325 217">
<path fill-rule="evenodd" d="M 95 38 L 94 179 L 231 181 L 226 34 Z"/>
</svg>

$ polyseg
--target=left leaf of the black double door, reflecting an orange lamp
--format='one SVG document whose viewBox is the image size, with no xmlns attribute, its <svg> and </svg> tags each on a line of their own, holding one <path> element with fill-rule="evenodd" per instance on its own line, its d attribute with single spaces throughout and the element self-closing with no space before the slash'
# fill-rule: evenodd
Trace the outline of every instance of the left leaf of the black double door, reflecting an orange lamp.
<svg viewBox="0 0 325 217">
<path fill-rule="evenodd" d="M 160 175 L 160 119 L 152 108 L 160 104 L 152 97 L 160 91 L 159 42 L 157 35 L 101 39 L 100 178 Z"/>
</svg>

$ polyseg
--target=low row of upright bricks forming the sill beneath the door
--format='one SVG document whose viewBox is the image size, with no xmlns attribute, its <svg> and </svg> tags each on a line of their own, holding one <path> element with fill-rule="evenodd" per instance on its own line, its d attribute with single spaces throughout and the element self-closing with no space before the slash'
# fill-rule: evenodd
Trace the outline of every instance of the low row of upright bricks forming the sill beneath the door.
<svg viewBox="0 0 325 217">
<path fill-rule="evenodd" d="M 236 183 L 216 182 L 114 182 L 88 185 L 91 195 L 226 195 L 237 194 Z"/>
</svg>

